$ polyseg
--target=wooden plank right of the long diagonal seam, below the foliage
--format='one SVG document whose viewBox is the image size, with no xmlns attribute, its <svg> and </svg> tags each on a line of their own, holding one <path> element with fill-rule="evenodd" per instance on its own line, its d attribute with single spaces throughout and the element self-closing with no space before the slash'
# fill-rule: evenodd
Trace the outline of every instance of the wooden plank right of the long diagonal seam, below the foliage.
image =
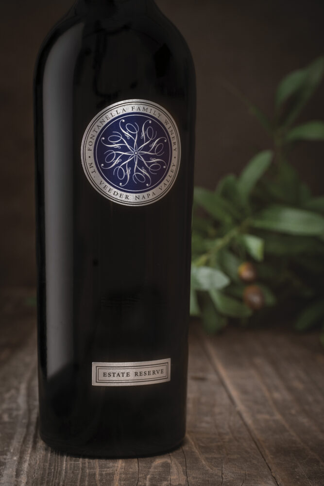
<svg viewBox="0 0 324 486">
<path fill-rule="evenodd" d="M 324 485 L 324 357 L 314 335 L 230 330 L 205 350 L 279 485 Z"/>
</svg>

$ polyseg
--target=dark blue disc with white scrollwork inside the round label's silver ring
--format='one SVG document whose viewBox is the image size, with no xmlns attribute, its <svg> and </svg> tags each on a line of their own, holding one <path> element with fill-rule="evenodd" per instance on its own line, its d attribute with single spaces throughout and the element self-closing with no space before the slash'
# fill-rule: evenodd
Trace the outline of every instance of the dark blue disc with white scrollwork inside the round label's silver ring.
<svg viewBox="0 0 324 486">
<path fill-rule="evenodd" d="M 124 114 L 100 130 L 94 160 L 102 178 L 124 192 L 153 190 L 171 164 L 171 138 L 161 121 Z"/>
</svg>

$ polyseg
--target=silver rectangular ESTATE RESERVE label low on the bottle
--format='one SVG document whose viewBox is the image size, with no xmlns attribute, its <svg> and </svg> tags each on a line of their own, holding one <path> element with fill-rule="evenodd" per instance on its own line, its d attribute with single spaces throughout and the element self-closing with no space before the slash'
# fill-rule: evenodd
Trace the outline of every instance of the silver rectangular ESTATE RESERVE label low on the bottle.
<svg viewBox="0 0 324 486">
<path fill-rule="evenodd" d="M 136 386 L 170 382 L 171 359 L 137 363 L 92 363 L 94 386 Z"/>
</svg>

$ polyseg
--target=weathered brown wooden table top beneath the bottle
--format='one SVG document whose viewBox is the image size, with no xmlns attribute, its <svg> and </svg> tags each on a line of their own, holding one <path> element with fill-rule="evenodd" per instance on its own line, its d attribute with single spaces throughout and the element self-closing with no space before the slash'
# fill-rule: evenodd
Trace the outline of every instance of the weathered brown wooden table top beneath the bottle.
<svg viewBox="0 0 324 486">
<path fill-rule="evenodd" d="M 0 485 L 323 486 L 324 354 L 317 334 L 190 332 L 188 433 L 158 457 L 69 457 L 39 438 L 33 289 L 3 290 Z"/>
</svg>

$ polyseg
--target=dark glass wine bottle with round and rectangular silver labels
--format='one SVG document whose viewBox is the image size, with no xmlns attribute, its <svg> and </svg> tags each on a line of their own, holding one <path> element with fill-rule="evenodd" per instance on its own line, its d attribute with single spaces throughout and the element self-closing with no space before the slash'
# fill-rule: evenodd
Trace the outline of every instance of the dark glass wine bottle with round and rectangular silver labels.
<svg viewBox="0 0 324 486">
<path fill-rule="evenodd" d="M 74 454 L 186 427 L 195 75 L 153 0 L 79 0 L 34 76 L 39 430 Z"/>
</svg>

